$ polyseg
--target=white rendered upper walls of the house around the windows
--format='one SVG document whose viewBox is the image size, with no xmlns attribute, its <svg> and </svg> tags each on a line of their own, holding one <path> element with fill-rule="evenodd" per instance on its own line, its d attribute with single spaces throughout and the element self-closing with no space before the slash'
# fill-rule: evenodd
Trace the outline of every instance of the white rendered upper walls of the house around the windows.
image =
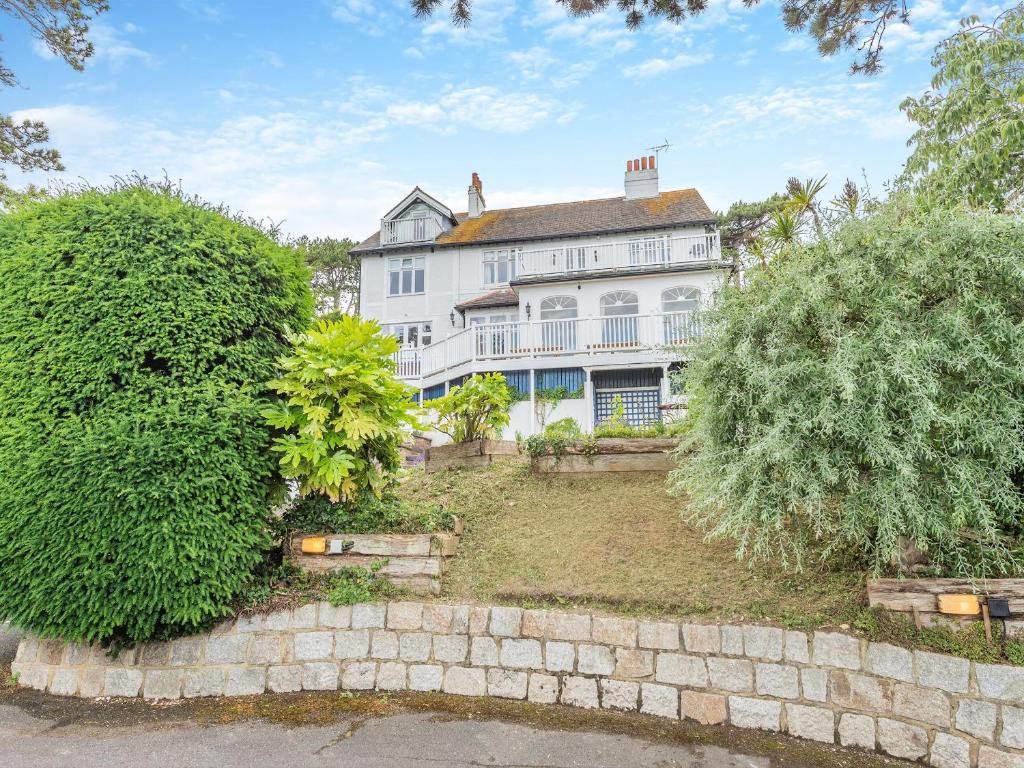
<svg viewBox="0 0 1024 768">
<path fill-rule="evenodd" d="M 483 284 L 483 252 L 508 247 L 525 250 L 562 248 L 568 245 L 598 245 L 602 243 L 626 242 L 644 237 L 693 237 L 703 234 L 702 226 L 676 227 L 618 234 L 606 234 L 579 239 L 552 239 L 524 243 L 510 243 L 499 246 L 461 246 L 434 249 L 430 245 L 400 253 L 385 253 L 382 256 L 364 256 L 361 260 L 360 308 L 366 317 L 381 325 L 392 323 L 432 323 L 433 342 L 461 331 L 463 318 L 456 312 L 456 325 L 450 319 L 456 304 L 476 298 L 494 287 Z M 433 250 L 433 252 L 431 252 Z M 397 256 L 425 257 L 425 291 L 407 296 L 387 295 L 387 259 Z M 660 311 L 660 291 L 680 285 L 693 285 L 702 293 L 721 280 L 721 271 L 673 272 L 657 276 L 609 278 L 600 281 L 572 281 L 566 284 L 544 284 L 541 286 L 518 287 L 520 293 L 520 319 L 526 319 L 523 307 L 528 300 L 534 307 L 534 319 L 540 318 L 540 300 L 546 296 L 579 293 L 580 316 L 598 316 L 597 296 L 607 291 L 628 289 L 641 292 L 640 312 Z M 616 285 L 609 285 L 609 284 Z M 577 291 L 577 285 L 582 288 Z M 571 288 L 571 292 L 567 289 Z M 501 311 L 514 311 L 496 309 Z"/>
</svg>

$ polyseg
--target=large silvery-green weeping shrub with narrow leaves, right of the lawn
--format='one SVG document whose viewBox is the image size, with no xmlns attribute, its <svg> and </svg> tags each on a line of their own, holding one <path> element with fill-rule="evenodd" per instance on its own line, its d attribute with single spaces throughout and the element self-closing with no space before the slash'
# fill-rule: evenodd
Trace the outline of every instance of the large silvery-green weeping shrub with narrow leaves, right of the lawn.
<svg viewBox="0 0 1024 768">
<path fill-rule="evenodd" d="M 740 556 L 809 545 L 1014 572 L 1024 499 L 1024 224 L 896 199 L 706 317 L 688 371 L 690 519 Z"/>
</svg>

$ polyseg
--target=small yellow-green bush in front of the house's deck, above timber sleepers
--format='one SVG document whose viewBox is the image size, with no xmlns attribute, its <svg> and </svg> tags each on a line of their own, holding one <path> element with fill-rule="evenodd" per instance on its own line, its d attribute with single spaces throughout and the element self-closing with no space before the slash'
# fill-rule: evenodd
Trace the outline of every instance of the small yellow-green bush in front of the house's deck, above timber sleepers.
<svg viewBox="0 0 1024 768">
<path fill-rule="evenodd" d="M 501 435 L 509 424 L 512 395 L 501 374 L 474 374 L 423 408 L 437 413 L 434 428 L 438 432 L 455 442 L 471 442 Z"/>
</svg>

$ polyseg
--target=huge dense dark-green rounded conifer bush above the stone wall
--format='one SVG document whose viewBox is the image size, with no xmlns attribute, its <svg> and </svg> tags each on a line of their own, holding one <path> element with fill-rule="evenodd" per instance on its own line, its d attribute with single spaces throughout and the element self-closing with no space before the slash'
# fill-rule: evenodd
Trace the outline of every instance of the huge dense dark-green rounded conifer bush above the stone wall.
<svg viewBox="0 0 1024 768">
<path fill-rule="evenodd" d="M 0 216 L 0 618 L 115 643 L 221 617 L 281 485 L 262 382 L 294 251 L 142 182 Z"/>
</svg>

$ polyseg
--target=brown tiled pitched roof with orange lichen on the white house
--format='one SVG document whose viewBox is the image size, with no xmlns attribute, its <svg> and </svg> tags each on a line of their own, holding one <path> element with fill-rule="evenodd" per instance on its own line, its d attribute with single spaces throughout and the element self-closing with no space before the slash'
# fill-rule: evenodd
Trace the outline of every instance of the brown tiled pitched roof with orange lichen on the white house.
<svg viewBox="0 0 1024 768">
<path fill-rule="evenodd" d="M 715 221 L 715 214 L 696 189 L 674 189 L 664 191 L 656 198 L 641 200 L 605 198 L 525 208 L 502 208 L 486 211 L 474 219 L 465 213 L 457 213 L 455 216 L 459 223 L 438 236 L 433 245 L 449 247 L 513 243 L 685 224 L 710 224 Z M 413 244 L 403 245 L 408 247 Z M 375 232 L 352 251 L 358 253 L 379 248 L 380 232 Z"/>
</svg>

